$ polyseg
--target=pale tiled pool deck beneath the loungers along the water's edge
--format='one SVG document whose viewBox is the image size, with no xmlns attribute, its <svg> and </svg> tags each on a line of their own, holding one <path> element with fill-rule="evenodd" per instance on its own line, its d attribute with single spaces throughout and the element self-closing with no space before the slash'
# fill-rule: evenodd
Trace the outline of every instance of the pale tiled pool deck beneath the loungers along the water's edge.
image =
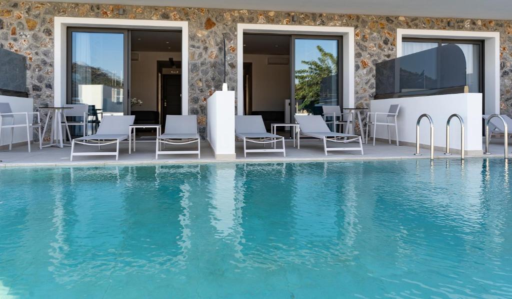
<svg viewBox="0 0 512 299">
<path fill-rule="evenodd" d="M 353 144 L 355 146 L 355 144 Z M 353 159 L 418 159 L 429 158 L 429 150 L 421 149 L 422 156 L 415 156 L 415 148 L 406 145 L 390 145 L 388 143 L 378 142 L 375 147 L 371 144 L 365 144 L 364 155 L 358 151 L 330 152 L 328 156 L 324 155 L 323 144 L 317 140 L 301 140 L 301 149 L 294 148 L 292 143 L 287 143 L 286 157 L 280 153 L 248 153 L 244 158 L 243 145 L 236 143 L 237 162 L 280 162 L 280 161 L 306 161 L 306 160 L 353 160 Z M 96 147 L 77 147 L 79 151 L 97 150 Z M 103 150 L 109 150 L 104 147 Z M 169 148 L 170 149 L 170 148 Z M 110 148 L 112 150 L 112 148 Z M 501 140 L 496 140 L 490 145 L 492 155 L 485 157 L 502 157 L 503 145 Z M 101 164 L 167 164 L 167 163 L 208 163 L 219 162 L 215 159 L 214 152 L 211 150 L 208 142 L 201 143 L 201 159 L 196 155 L 161 155 L 158 160 L 155 159 L 154 142 L 137 142 L 137 151 L 128 153 L 128 143 L 121 143 L 119 160 L 114 156 L 78 156 L 70 161 L 71 147 L 64 148 L 43 148 L 39 150 L 36 145 L 32 147 L 32 152 L 27 151 L 26 144 L 13 146 L 12 151 L 7 151 L 4 146 L 0 151 L 0 167 L 15 166 L 65 166 L 65 165 L 101 165 Z M 460 158 L 459 155 L 446 156 L 444 151 L 435 151 L 436 158 Z M 233 160 L 231 160 L 232 162 Z"/>
</svg>

